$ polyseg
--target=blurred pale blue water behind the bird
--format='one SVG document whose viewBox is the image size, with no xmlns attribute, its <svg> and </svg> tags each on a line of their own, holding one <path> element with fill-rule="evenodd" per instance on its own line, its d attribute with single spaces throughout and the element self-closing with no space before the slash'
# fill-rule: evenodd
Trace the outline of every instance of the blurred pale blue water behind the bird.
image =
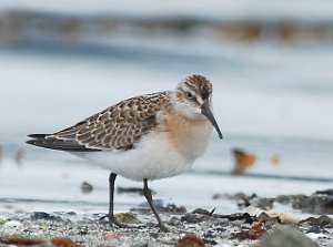
<svg viewBox="0 0 333 247">
<path fill-rule="evenodd" d="M 188 74 L 214 85 L 215 133 L 190 173 L 151 183 L 189 208 L 236 212 L 213 194 L 273 197 L 333 187 L 333 2 L 0 2 L 0 210 L 105 212 L 108 172 L 27 146 Z M 256 156 L 234 176 L 233 148 Z M 80 185 L 94 186 L 82 194 Z M 119 179 L 121 186 L 141 184 Z M 144 199 L 119 195 L 124 210 Z"/>
</svg>

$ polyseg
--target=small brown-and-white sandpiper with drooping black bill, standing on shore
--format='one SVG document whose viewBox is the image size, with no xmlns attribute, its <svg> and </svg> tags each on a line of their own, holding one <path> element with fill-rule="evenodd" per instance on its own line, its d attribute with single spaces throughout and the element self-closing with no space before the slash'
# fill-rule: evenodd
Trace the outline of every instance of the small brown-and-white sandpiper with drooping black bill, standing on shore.
<svg viewBox="0 0 333 247">
<path fill-rule="evenodd" d="M 108 218 L 114 220 L 117 175 L 143 181 L 143 195 L 161 229 L 167 230 L 154 206 L 148 181 L 188 171 L 209 145 L 215 127 L 212 84 L 202 75 L 182 80 L 174 91 L 124 100 L 53 134 L 31 134 L 28 144 L 65 151 L 109 171 Z"/>
</svg>

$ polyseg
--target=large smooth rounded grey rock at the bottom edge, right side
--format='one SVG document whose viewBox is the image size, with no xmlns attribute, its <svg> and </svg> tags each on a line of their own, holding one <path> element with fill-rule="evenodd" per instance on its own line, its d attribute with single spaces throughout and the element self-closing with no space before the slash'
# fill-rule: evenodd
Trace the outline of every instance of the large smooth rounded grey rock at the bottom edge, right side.
<svg viewBox="0 0 333 247">
<path fill-rule="evenodd" d="M 284 227 L 265 235 L 259 247 L 319 247 L 319 245 L 294 228 Z"/>
</svg>

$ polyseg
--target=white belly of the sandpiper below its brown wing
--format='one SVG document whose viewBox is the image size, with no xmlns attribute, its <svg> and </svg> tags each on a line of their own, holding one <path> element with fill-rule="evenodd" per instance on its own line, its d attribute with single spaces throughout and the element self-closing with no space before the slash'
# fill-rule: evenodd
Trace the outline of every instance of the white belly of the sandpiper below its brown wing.
<svg viewBox="0 0 333 247">
<path fill-rule="evenodd" d="M 175 176 L 188 171 L 194 162 L 176 151 L 165 133 L 144 136 L 133 150 L 81 153 L 79 156 L 133 181 Z"/>
</svg>

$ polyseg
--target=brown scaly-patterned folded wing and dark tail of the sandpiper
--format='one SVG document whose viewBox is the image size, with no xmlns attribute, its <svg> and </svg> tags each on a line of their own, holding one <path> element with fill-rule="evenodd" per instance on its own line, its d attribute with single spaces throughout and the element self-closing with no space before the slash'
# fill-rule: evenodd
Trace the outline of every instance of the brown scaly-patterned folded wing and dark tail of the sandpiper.
<svg viewBox="0 0 333 247">
<path fill-rule="evenodd" d="M 157 124 L 170 93 L 131 97 L 53 134 L 30 135 L 29 144 L 70 152 L 129 150 Z"/>
</svg>

